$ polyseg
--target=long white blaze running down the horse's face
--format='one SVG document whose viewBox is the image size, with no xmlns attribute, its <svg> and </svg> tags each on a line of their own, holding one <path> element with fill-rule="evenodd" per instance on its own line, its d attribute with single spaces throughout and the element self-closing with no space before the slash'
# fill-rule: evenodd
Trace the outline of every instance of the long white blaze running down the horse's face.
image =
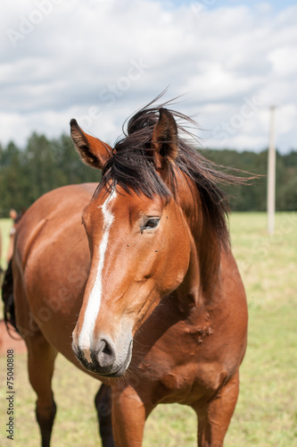
<svg viewBox="0 0 297 447">
<path fill-rule="evenodd" d="M 102 273 L 104 265 L 104 257 L 107 249 L 108 238 L 111 229 L 111 223 L 114 220 L 114 216 L 108 209 L 108 205 L 111 200 L 116 197 L 115 190 L 111 191 L 109 198 L 105 200 L 102 206 L 103 211 L 103 238 L 99 248 L 99 262 L 97 266 L 97 273 L 95 276 L 95 283 L 90 296 L 87 300 L 87 308 L 84 316 L 84 323 L 79 334 L 78 346 L 81 350 L 84 350 L 84 355 L 88 361 L 91 361 L 90 348 L 93 340 L 93 333 L 95 328 L 95 321 L 99 314 L 101 297 L 102 297 Z"/>
</svg>

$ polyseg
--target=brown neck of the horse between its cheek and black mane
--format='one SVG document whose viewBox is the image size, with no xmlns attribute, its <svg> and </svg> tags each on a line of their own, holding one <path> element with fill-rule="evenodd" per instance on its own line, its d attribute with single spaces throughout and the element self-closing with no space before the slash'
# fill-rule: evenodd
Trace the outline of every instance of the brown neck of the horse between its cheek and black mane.
<svg viewBox="0 0 297 447">
<path fill-rule="evenodd" d="M 221 242 L 194 182 L 179 174 L 177 191 L 177 203 L 185 215 L 192 243 L 183 288 L 192 295 L 194 302 L 201 296 L 210 300 L 219 281 Z"/>
</svg>

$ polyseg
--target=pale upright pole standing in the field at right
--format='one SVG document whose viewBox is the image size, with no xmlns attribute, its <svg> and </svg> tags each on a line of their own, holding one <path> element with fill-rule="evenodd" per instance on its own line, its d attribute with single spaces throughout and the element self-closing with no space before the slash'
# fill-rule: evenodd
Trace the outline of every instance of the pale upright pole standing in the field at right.
<svg viewBox="0 0 297 447">
<path fill-rule="evenodd" d="M 270 130 L 268 149 L 268 182 L 267 182 L 267 211 L 268 233 L 275 231 L 276 213 L 276 106 L 270 106 Z"/>
</svg>

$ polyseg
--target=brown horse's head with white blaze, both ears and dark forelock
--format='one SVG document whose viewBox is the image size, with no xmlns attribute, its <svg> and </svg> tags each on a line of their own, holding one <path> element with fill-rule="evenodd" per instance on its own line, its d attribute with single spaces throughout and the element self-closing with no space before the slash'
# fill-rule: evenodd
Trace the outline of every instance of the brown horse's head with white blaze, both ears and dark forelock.
<svg viewBox="0 0 297 447">
<path fill-rule="evenodd" d="M 191 255 L 188 223 L 172 192 L 175 119 L 161 108 L 157 121 L 138 127 L 136 119 L 111 149 L 71 121 L 78 153 L 103 170 L 82 215 L 92 260 L 72 348 L 84 367 L 111 377 L 127 370 L 136 331 L 183 283 Z"/>
</svg>

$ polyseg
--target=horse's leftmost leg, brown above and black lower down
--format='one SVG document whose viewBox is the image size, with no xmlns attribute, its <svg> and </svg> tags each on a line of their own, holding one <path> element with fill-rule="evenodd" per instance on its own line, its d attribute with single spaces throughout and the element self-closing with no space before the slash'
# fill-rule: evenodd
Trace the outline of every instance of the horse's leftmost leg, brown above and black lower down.
<svg viewBox="0 0 297 447">
<path fill-rule="evenodd" d="M 56 413 L 52 377 L 57 352 L 40 332 L 27 337 L 26 342 L 29 381 L 37 393 L 36 417 L 40 428 L 41 445 L 49 447 Z"/>
</svg>

